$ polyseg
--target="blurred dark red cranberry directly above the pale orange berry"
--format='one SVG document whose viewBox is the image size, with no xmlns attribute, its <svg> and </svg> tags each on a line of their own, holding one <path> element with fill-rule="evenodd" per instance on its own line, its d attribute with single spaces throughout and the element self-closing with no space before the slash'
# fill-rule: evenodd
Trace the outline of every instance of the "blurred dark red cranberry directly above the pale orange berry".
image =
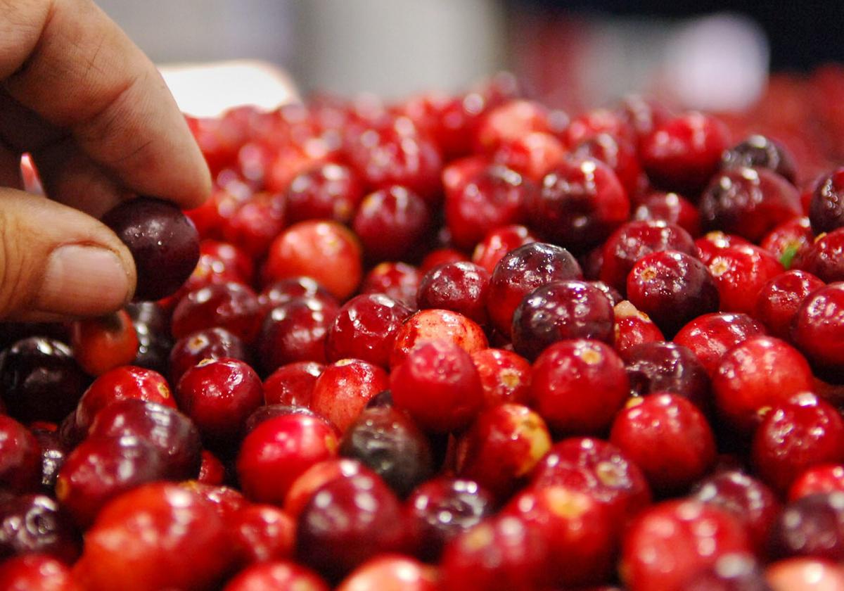
<svg viewBox="0 0 844 591">
<path fill-rule="evenodd" d="M 363 183 L 348 166 L 323 164 L 296 176 L 284 193 L 287 219 L 349 224 L 364 197 Z"/>
</svg>

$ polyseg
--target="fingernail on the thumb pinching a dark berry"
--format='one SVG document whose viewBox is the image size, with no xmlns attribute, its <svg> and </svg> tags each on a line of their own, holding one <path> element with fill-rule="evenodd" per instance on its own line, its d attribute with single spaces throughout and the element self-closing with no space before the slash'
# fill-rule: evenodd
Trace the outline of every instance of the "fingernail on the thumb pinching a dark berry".
<svg viewBox="0 0 844 591">
<path fill-rule="evenodd" d="M 114 252 L 73 244 L 51 253 L 35 306 L 41 312 L 102 314 L 122 306 L 129 290 L 129 275 Z"/>
</svg>

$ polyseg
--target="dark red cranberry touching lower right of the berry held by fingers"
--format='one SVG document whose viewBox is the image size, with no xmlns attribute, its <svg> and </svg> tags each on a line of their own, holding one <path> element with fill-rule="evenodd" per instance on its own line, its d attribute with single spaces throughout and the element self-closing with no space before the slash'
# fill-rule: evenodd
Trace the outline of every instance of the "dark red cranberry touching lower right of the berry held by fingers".
<svg viewBox="0 0 844 591">
<path fill-rule="evenodd" d="M 171 331 L 176 339 L 205 328 L 225 328 L 251 343 L 261 328 L 257 295 L 246 285 L 207 285 L 181 298 L 173 310 Z"/>
</svg>

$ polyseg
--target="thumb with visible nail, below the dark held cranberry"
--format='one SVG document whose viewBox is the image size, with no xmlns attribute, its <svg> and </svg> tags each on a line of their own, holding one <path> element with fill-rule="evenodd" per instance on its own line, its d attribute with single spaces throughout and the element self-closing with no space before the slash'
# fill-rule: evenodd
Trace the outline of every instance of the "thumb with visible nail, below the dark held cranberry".
<svg viewBox="0 0 844 591">
<path fill-rule="evenodd" d="M 105 314 L 134 290 L 132 255 L 106 225 L 47 198 L 0 189 L 0 318 Z"/>
</svg>

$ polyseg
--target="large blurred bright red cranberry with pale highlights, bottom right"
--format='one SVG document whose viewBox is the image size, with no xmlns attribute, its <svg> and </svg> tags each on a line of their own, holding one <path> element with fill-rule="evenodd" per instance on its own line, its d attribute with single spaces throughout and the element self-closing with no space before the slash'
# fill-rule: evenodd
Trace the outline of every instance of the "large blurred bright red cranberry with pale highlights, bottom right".
<svg viewBox="0 0 844 591">
<path fill-rule="evenodd" d="M 744 524 L 698 501 L 647 509 L 625 535 L 619 567 L 630 591 L 681 591 L 690 577 L 722 556 L 749 553 Z"/>
</svg>

